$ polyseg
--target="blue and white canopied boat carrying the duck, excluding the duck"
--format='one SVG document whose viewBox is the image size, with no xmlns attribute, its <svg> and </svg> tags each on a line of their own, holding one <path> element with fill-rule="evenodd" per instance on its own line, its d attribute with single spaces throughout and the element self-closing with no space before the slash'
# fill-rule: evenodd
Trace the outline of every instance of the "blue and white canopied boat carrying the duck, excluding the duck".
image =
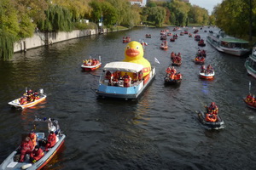
<svg viewBox="0 0 256 170">
<path fill-rule="evenodd" d="M 127 72 L 131 77 L 121 77 L 121 72 Z M 155 77 L 155 68 L 146 77 L 143 65 L 129 62 L 111 62 L 104 66 L 96 94 L 101 97 L 119 99 L 137 99 Z"/>
</svg>

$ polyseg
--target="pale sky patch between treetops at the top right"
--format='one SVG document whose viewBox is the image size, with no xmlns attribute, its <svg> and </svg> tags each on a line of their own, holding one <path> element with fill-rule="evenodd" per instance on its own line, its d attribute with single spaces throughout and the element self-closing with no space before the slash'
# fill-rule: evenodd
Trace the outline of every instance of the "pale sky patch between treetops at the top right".
<svg viewBox="0 0 256 170">
<path fill-rule="evenodd" d="M 222 0 L 189 0 L 189 3 L 200 6 L 201 8 L 206 8 L 209 14 L 212 14 L 214 6 L 218 3 L 222 3 Z"/>
</svg>

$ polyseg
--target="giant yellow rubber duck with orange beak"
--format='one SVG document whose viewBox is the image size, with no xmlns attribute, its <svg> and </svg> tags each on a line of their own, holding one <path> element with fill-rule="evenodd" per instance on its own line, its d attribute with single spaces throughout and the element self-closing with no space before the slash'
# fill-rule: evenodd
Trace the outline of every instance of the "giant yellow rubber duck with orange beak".
<svg viewBox="0 0 256 170">
<path fill-rule="evenodd" d="M 125 62 L 131 62 L 143 65 L 143 77 L 147 76 L 151 71 L 151 64 L 148 62 L 148 59 L 143 57 L 144 51 L 143 46 L 140 42 L 129 42 L 125 48 Z"/>
</svg>

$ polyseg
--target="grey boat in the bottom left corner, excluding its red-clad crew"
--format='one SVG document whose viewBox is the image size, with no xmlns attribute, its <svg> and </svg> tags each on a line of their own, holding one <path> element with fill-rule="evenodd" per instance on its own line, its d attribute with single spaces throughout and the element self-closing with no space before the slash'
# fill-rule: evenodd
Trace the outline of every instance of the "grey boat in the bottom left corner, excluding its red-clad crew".
<svg viewBox="0 0 256 170">
<path fill-rule="evenodd" d="M 37 144 L 40 146 L 42 150 L 45 149 L 44 141 L 46 141 L 46 137 L 44 136 L 47 131 L 53 131 L 56 136 L 56 143 L 53 147 L 49 148 L 49 150 L 44 151 L 44 156 L 40 158 L 38 161 L 32 162 L 29 158 L 29 154 L 25 156 L 23 162 L 20 162 L 20 149 L 13 151 L 0 165 L 0 170 L 16 170 L 16 169 L 27 169 L 27 170 L 38 170 L 43 168 L 60 150 L 61 145 L 64 144 L 64 139 L 66 138 L 65 134 L 61 133 L 61 128 L 59 127 L 58 121 L 54 119 L 39 119 L 36 118 L 34 122 L 46 122 L 48 123 L 48 129 L 45 131 L 34 132 L 37 136 Z M 47 127 L 47 126 L 45 126 Z"/>
</svg>

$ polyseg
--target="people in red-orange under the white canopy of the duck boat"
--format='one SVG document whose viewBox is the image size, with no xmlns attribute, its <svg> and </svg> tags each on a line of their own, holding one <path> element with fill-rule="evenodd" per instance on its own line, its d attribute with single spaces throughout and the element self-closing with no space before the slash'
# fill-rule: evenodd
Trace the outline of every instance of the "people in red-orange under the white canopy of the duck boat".
<svg viewBox="0 0 256 170">
<path fill-rule="evenodd" d="M 107 71 L 105 75 L 105 79 L 108 80 L 108 86 L 118 86 L 129 88 L 131 86 L 131 82 L 137 82 L 143 80 L 143 71 L 133 72 L 132 77 L 125 72 L 125 75 L 121 76 L 121 71 Z M 123 83 L 121 83 L 123 82 Z"/>
</svg>

